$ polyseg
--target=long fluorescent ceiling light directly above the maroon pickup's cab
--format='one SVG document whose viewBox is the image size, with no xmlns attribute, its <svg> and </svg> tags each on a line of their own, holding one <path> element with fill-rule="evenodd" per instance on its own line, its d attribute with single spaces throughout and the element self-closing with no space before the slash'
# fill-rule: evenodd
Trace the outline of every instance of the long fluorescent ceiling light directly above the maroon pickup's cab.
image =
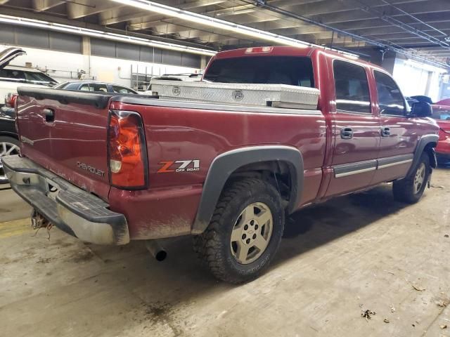
<svg viewBox="0 0 450 337">
<path fill-rule="evenodd" d="M 243 25 L 238 25 L 226 20 L 220 20 L 217 18 L 211 18 L 207 15 L 184 11 L 183 9 L 157 4 L 153 1 L 146 0 L 112 0 L 121 5 L 128 5 L 135 8 L 142 9 L 144 11 L 150 11 L 153 13 L 159 13 L 162 15 L 172 16 L 181 20 L 195 22 L 200 25 L 206 25 L 214 28 L 228 30 L 229 32 L 235 32 L 243 34 L 255 39 L 262 39 L 265 41 L 275 42 L 276 44 L 285 44 L 288 46 L 295 46 L 298 48 L 306 48 L 312 46 L 311 44 L 300 41 L 297 39 L 291 39 L 290 37 L 283 37 L 282 35 L 274 34 L 271 32 L 264 32 L 264 30 L 255 29 Z"/>
</svg>

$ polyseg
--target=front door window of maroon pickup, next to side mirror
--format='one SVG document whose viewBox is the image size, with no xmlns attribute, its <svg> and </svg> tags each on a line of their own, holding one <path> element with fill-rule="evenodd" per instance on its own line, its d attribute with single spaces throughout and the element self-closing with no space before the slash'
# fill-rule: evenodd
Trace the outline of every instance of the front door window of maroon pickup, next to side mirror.
<svg viewBox="0 0 450 337">
<path fill-rule="evenodd" d="M 406 106 L 403 96 L 394 80 L 383 72 L 374 71 L 377 82 L 378 104 L 382 114 L 404 116 Z"/>
</svg>

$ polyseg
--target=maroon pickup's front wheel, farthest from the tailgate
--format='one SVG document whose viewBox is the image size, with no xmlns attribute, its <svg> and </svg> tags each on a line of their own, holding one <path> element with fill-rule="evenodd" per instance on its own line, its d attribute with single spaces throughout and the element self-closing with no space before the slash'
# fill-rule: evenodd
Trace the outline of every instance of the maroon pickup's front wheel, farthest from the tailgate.
<svg viewBox="0 0 450 337">
<path fill-rule="evenodd" d="M 415 204 L 422 197 L 430 174 L 430 157 L 426 152 L 423 152 L 411 176 L 394 181 L 392 185 L 394 199 L 407 204 Z"/>
</svg>

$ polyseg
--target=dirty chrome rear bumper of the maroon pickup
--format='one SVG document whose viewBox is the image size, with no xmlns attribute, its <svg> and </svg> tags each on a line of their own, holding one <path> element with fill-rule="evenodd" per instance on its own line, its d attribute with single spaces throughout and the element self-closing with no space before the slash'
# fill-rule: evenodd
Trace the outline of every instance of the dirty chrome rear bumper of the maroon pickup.
<svg viewBox="0 0 450 337">
<path fill-rule="evenodd" d="M 129 243 L 127 219 L 102 199 L 25 157 L 2 161 L 12 189 L 60 230 L 92 244 Z"/>
</svg>

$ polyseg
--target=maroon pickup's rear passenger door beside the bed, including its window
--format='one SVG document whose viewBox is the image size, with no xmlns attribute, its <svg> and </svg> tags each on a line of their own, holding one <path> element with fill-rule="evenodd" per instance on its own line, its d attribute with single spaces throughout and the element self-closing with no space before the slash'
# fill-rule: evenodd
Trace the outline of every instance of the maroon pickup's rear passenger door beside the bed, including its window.
<svg viewBox="0 0 450 337">
<path fill-rule="evenodd" d="M 372 104 L 366 67 L 333 61 L 335 81 L 332 176 L 326 195 L 352 192 L 371 184 L 380 145 L 380 119 Z M 373 90 L 373 89 L 372 89 Z"/>
</svg>

